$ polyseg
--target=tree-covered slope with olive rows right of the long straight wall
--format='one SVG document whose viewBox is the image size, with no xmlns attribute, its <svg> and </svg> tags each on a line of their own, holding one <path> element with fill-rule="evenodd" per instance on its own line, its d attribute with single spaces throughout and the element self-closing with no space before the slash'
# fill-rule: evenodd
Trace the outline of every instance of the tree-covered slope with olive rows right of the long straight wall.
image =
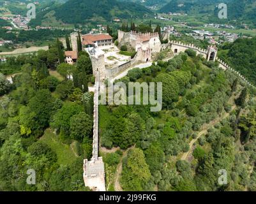
<svg viewBox="0 0 256 204">
<path fill-rule="evenodd" d="M 102 150 L 109 190 L 120 162 L 124 191 L 255 190 L 255 91 L 236 75 L 186 50 L 116 82 L 162 82 L 163 110 L 100 106 L 101 145 L 121 148 Z"/>
</svg>

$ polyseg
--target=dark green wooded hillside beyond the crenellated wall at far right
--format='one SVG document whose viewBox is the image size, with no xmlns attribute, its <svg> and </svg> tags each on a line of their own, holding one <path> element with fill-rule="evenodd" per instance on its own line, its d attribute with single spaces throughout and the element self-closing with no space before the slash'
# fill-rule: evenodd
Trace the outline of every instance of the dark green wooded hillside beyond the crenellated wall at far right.
<svg viewBox="0 0 256 204">
<path fill-rule="evenodd" d="M 256 85 L 256 38 L 239 38 L 221 48 L 219 57 Z"/>
</svg>

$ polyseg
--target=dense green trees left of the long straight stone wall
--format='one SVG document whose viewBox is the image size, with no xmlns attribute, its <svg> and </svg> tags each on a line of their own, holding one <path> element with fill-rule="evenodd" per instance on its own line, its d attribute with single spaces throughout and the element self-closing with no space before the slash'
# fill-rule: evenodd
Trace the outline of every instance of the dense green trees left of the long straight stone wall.
<svg viewBox="0 0 256 204">
<path fill-rule="evenodd" d="M 68 65 L 63 54 L 57 40 L 48 51 L 8 59 L 20 69 L 13 84 L 0 74 L 0 191 L 88 190 L 82 164 L 92 150 L 91 60 L 80 52 Z"/>
</svg>

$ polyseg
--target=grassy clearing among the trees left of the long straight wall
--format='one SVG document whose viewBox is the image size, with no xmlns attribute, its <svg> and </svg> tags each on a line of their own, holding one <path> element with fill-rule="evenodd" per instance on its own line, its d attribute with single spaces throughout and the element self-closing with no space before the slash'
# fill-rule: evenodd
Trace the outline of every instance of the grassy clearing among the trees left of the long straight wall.
<svg viewBox="0 0 256 204">
<path fill-rule="evenodd" d="M 76 157 L 70 145 L 63 144 L 59 141 L 58 136 L 54 135 L 50 129 L 45 131 L 45 134 L 40 138 L 41 142 L 47 143 L 57 154 L 57 163 L 72 164 Z"/>
</svg>

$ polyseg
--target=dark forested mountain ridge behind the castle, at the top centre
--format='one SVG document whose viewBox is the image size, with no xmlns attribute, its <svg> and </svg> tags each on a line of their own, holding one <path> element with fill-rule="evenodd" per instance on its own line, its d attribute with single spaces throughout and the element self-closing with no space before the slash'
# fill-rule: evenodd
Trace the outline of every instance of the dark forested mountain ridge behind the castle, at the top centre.
<svg viewBox="0 0 256 204">
<path fill-rule="evenodd" d="M 89 20 L 113 20 L 114 18 L 142 18 L 153 15 L 151 10 L 136 3 L 119 2 L 116 0 L 72 0 L 48 11 L 42 11 L 34 22 L 40 22 L 50 11 L 54 17 L 67 24 L 82 24 Z M 31 24 L 34 24 L 33 21 Z"/>
</svg>

